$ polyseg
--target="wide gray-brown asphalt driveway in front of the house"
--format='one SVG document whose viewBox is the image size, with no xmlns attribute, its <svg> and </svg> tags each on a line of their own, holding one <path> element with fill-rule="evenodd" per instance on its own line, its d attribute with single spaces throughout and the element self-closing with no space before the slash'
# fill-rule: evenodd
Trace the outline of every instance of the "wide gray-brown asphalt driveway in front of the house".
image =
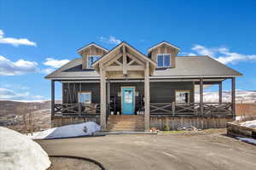
<svg viewBox="0 0 256 170">
<path fill-rule="evenodd" d="M 85 156 L 109 170 L 255 170 L 256 146 L 221 133 L 108 135 L 37 142 L 49 155 Z"/>
</svg>

